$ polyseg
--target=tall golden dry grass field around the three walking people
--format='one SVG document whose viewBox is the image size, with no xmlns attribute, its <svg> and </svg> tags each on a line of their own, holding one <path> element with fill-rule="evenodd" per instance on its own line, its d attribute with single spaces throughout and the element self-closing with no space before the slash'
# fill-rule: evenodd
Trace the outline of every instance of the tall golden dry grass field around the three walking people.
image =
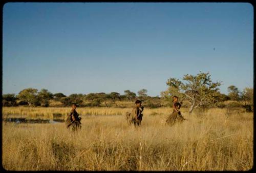
<svg viewBox="0 0 256 173">
<path fill-rule="evenodd" d="M 3 117 L 52 118 L 70 108 L 3 107 Z M 78 108 L 82 128 L 65 123 L 3 122 L 7 170 L 248 170 L 253 165 L 253 113 L 195 110 L 182 124 L 165 126 L 169 107 L 145 109 L 139 128 L 121 108 Z"/>
</svg>

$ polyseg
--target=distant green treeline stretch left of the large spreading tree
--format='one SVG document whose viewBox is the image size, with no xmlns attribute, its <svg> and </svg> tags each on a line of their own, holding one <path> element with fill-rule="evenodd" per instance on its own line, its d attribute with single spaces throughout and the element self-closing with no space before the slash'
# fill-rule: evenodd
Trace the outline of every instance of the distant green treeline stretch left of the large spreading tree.
<svg viewBox="0 0 256 173">
<path fill-rule="evenodd" d="M 15 94 L 3 95 L 3 106 L 50 106 L 50 102 L 61 102 L 60 106 L 70 106 L 72 103 L 76 103 L 80 107 L 87 106 L 106 106 L 111 107 L 116 105 L 116 101 L 134 102 L 136 99 L 145 101 L 150 107 L 160 107 L 161 98 L 148 96 L 147 90 L 142 89 L 138 93 L 125 90 L 121 95 L 117 92 L 111 93 L 90 93 L 90 94 L 71 94 L 66 96 L 63 93 L 52 94 L 47 89 L 42 89 L 38 92 L 37 89 L 28 88 Z"/>
</svg>

